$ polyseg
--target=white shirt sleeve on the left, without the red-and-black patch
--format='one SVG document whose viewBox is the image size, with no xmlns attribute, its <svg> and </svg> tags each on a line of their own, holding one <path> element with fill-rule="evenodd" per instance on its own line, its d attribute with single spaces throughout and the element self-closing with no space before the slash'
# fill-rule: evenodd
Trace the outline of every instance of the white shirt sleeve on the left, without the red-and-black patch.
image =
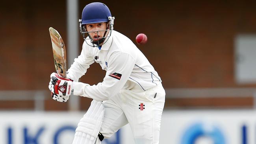
<svg viewBox="0 0 256 144">
<path fill-rule="evenodd" d="M 83 46 L 81 54 L 74 59 L 74 63 L 70 66 L 67 78 L 78 81 L 87 71 L 87 68 L 94 63 L 93 57 L 90 55 L 86 46 Z"/>
</svg>

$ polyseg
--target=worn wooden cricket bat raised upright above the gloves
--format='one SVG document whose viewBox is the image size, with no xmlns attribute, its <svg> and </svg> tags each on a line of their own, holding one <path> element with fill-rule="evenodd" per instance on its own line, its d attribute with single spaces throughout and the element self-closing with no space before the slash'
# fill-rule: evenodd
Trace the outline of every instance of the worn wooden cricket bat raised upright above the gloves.
<svg viewBox="0 0 256 144">
<path fill-rule="evenodd" d="M 55 69 L 60 77 L 66 78 L 67 59 L 65 44 L 57 30 L 50 27 L 49 31 L 52 40 L 52 52 L 54 57 Z"/>
</svg>

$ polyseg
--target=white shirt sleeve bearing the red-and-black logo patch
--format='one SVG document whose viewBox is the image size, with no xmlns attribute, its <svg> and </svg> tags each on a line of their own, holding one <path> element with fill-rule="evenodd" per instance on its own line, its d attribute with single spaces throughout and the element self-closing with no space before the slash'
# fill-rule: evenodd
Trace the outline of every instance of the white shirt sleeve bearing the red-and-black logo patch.
<svg viewBox="0 0 256 144">
<path fill-rule="evenodd" d="M 74 82 L 74 95 L 92 98 L 96 101 L 109 100 L 117 94 L 129 76 L 135 65 L 135 59 L 126 53 L 117 52 L 112 54 L 108 60 L 108 70 L 101 83 L 88 85 L 81 82 Z"/>
</svg>

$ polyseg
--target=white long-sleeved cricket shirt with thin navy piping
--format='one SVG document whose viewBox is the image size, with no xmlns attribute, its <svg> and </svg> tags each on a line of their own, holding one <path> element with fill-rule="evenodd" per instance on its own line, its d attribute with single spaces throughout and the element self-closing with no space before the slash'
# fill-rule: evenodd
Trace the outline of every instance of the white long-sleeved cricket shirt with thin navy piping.
<svg viewBox="0 0 256 144">
<path fill-rule="evenodd" d="M 78 82 L 94 62 L 106 70 L 103 81 L 97 85 Z M 138 90 L 139 87 L 139 91 L 145 91 L 161 83 L 161 78 L 145 55 L 128 37 L 114 30 L 100 50 L 84 41 L 82 52 L 74 59 L 67 77 L 74 80 L 74 95 L 97 101 L 108 100 L 121 89 L 133 90 L 136 87 L 134 90 Z"/>
</svg>

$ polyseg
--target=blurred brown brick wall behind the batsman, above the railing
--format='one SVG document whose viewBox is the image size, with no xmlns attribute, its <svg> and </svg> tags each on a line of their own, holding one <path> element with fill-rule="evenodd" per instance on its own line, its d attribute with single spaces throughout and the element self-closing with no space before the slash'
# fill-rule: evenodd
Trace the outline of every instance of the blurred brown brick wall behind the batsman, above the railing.
<svg viewBox="0 0 256 144">
<path fill-rule="evenodd" d="M 79 13 L 90 2 L 80 0 Z M 47 90 L 55 71 L 48 28 L 56 28 L 67 41 L 65 1 L 1 3 L 0 90 Z M 165 88 L 256 86 L 234 81 L 234 37 L 256 33 L 256 2 L 104 3 L 116 18 L 115 30 L 134 42 L 138 33 L 147 34 L 148 43 L 138 48 L 158 71 Z M 81 81 L 96 84 L 104 74 L 93 64 Z"/>
</svg>

